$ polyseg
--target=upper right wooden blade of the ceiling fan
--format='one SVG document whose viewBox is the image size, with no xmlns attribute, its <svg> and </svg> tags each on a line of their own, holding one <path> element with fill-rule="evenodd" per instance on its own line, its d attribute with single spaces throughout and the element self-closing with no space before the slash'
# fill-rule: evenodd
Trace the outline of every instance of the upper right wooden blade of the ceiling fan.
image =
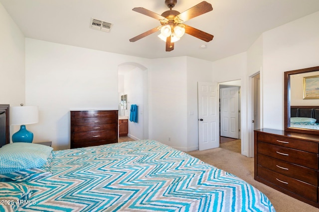
<svg viewBox="0 0 319 212">
<path fill-rule="evenodd" d="M 199 4 L 196 4 L 195 6 L 187 9 L 186 11 L 184 11 L 176 16 L 180 20 L 186 21 L 186 20 L 189 20 L 191 18 L 197 17 L 198 15 L 209 12 L 211 10 L 213 10 L 212 5 L 210 3 L 208 3 L 207 1 L 202 1 Z"/>
</svg>

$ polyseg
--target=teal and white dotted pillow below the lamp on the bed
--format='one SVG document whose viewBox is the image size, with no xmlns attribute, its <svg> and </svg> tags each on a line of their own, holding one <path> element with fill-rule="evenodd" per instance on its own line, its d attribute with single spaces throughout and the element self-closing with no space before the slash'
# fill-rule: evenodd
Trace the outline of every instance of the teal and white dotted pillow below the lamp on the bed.
<svg viewBox="0 0 319 212">
<path fill-rule="evenodd" d="M 39 168 L 51 155 L 51 146 L 16 142 L 0 148 L 0 174 L 7 174 L 21 169 Z"/>
</svg>

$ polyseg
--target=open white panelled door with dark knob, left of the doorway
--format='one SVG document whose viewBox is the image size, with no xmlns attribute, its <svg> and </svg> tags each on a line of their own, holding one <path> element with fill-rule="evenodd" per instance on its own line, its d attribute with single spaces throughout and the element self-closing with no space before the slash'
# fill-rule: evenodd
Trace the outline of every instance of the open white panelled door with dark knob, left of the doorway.
<svg viewBox="0 0 319 212">
<path fill-rule="evenodd" d="M 219 104 L 217 83 L 198 82 L 199 150 L 219 147 Z"/>
</svg>

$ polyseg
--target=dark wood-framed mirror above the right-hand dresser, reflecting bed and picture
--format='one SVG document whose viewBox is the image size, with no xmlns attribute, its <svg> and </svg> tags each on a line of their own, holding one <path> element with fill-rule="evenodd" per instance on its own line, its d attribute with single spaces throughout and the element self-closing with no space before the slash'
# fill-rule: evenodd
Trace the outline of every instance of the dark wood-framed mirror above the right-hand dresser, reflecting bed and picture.
<svg viewBox="0 0 319 212">
<path fill-rule="evenodd" d="M 284 86 L 285 131 L 319 135 L 319 67 L 284 72 Z"/>
</svg>

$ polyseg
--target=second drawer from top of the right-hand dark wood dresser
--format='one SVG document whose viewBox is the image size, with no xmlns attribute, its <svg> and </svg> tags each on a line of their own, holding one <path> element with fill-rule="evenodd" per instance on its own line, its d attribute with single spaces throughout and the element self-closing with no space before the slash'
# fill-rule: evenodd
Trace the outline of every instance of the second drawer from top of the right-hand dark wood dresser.
<svg viewBox="0 0 319 212">
<path fill-rule="evenodd" d="M 287 162 L 318 169 L 318 154 L 258 141 L 257 152 Z"/>
</svg>

